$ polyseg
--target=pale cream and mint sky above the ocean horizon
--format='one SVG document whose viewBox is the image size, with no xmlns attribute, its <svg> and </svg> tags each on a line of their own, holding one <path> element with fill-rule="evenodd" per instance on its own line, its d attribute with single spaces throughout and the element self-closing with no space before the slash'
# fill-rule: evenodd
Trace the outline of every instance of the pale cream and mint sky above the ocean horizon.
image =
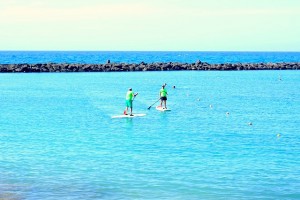
<svg viewBox="0 0 300 200">
<path fill-rule="evenodd" d="M 300 51 L 299 0 L 0 0 L 0 50 Z"/>
</svg>

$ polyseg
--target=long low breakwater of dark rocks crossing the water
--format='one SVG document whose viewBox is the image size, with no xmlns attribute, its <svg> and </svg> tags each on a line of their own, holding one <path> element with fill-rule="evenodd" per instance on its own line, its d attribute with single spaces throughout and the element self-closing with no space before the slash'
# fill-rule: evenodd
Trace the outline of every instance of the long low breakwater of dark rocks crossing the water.
<svg viewBox="0 0 300 200">
<path fill-rule="evenodd" d="M 234 71 L 234 70 L 298 70 L 300 62 L 296 63 L 224 63 L 209 64 L 197 61 L 195 63 L 106 63 L 106 64 L 0 64 L 0 72 L 127 72 L 127 71 Z"/>
</svg>

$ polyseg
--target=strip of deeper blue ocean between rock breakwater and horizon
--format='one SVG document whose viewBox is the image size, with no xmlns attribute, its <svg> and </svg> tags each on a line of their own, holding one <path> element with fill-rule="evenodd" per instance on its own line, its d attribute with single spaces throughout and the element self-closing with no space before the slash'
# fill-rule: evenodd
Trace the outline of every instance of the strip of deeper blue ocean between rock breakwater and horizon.
<svg viewBox="0 0 300 200">
<path fill-rule="evenodd" d="M 15 63 L 153 63 L 197 60 L 208 63 L 300 62 L 300 52 L 205 51 L 0 51 L 0 64 Z"/>
</svg>

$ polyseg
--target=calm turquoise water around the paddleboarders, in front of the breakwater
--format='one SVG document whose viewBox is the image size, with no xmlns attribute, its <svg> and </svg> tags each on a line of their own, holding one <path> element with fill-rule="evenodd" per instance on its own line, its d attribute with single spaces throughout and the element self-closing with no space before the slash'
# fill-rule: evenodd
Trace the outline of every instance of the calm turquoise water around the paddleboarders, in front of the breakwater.
<svg viewBox="0 0 300 200">
<path fill-rule="evenodd" d="M 148 110 L 165 82 L 172 111 Z M 111 119 L 128 87 L 147 115 Z M 299 199 L 299 91 L 299 71 L 0 74 L 0 199 Z"/>
</svg>

